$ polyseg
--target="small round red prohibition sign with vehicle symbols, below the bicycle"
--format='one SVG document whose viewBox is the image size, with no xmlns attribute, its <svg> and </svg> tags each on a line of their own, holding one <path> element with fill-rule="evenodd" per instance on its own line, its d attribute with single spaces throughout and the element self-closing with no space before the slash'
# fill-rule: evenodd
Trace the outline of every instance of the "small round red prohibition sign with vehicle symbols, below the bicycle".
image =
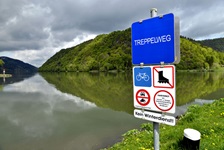
<svg viewBox="0 0 224 150">
<path fill-rule="evenodd" d="M 150 102 L 149 92 L 144 89 L 138 90 L 135 95 L 135 98 L 136 98 L 138 104 L 141 106 L 146 106 Z"/>
</svg>

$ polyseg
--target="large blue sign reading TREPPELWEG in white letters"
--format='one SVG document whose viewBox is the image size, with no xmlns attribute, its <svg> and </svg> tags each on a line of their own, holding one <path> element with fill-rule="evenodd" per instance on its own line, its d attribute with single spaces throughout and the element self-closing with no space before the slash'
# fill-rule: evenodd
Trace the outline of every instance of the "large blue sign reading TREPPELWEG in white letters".
<svg viewBox="0 0 224 150">
<path fill-rule="evenodd" d="M 175 23 L 172 13 L 135 22 L 131 30 L 134 65 L 175 62 Z"/>
</svg>

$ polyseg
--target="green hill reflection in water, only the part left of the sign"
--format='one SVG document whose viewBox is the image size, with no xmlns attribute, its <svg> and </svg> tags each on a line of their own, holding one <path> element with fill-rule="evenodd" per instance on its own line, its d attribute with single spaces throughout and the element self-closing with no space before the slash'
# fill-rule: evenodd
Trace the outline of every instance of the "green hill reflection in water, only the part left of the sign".
<svg viewBox="0 0 224 150">
<path fill-rule="evenodd" d="M 99 107 L 133 113 L 131 73 L 41 73 L 57 89 Z"/>
</svg>

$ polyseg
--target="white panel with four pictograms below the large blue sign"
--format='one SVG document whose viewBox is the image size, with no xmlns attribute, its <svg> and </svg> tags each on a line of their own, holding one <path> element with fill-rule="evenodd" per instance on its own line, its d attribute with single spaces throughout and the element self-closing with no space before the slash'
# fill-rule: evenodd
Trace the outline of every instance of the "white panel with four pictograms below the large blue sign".
<svg viewBox="0 0 224 150">
<path fill-rule="evenodd" d="M 138 78 L 140 79 L 140 77 L 137 77 L 139 73 L 142 73 L 142 82 L 138 81 Z M 175 113 L 176 83 L 174 65 L 133 67 L 133 83 L 135 108 Z"/>
</svg>

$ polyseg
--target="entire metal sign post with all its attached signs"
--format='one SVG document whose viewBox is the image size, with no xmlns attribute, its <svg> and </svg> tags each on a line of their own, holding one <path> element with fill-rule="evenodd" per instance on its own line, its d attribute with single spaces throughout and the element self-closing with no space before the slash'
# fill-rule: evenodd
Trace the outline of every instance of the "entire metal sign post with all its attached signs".
<svg viewBox="0 0 224 150">
<path fill-rule="evenodd" d="M 134 22 L 131 28 L 134 116 L 153 122 L 154 150 L 159 150 L 159 124 L 176 122 L 169 114 L 176 111 L 173 64 L 180 61 L 179 18 L 172 13 L 157 16 L 152 8 L 150 19 Z"/>
</svg>

